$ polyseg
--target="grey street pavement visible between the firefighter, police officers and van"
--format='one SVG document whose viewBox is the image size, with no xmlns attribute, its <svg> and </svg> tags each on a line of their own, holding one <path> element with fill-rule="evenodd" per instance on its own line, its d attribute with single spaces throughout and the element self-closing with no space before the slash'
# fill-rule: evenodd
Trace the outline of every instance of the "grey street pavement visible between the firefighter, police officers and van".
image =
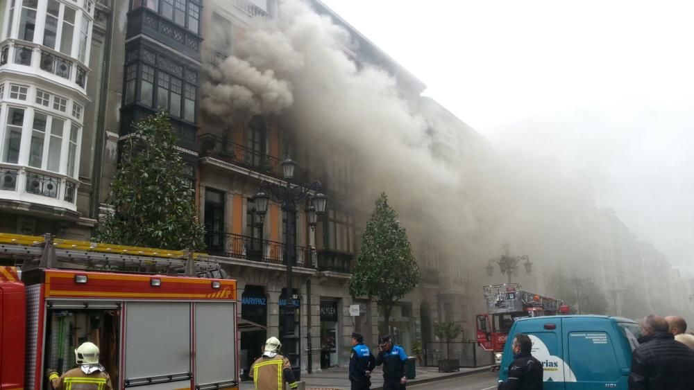
<svg viewBox="0 0 694 390">
<path fill-rule="evenodd" d="M 489 367 L 477 369 L 460 369 L 454 373 L 439 373 L 436 367 L 417 367 L 416 379 L 407 384 L 407 389 L 496 389 L 498 373 L 489 371 Z M 306 390 L 347 390 L 347 369 L 339 367 L 323 370 L 319 373 L 303 374 Z M 383 384 L 380 369 L 371 377 L 371 389 L 380 389 Z M 253 382 L 242 382 L 239 390 L 253 389 Z"/>
</svg>

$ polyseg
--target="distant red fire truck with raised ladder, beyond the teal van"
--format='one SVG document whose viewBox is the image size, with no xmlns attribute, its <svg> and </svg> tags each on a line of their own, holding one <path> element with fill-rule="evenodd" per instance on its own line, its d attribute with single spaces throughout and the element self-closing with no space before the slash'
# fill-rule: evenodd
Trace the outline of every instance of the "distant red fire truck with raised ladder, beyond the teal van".
<svg viewBox="0 0 694 390">
<path fill-rule="evenodd" d="M 518 283 L 488 285 L 482 290 L 488 311 L 477 315 L 477 344 L 494 352 L 496 364 L 501 363 L 504 344 L 516 319 L 568 312 L 568 306 L 561 301 L 527 292 Z"/>
</svg>

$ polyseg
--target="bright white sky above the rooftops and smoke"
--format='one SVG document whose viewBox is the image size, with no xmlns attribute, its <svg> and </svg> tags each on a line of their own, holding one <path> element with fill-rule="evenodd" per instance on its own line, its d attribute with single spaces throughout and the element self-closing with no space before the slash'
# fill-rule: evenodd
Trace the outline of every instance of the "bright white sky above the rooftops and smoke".
<svg viewBox="0 0 694 390">
<path fill-rule="evenodd" d="M 323 2 L 487 138 L 586 171 L 694 276 L 694 1 Z"/>
</svg>

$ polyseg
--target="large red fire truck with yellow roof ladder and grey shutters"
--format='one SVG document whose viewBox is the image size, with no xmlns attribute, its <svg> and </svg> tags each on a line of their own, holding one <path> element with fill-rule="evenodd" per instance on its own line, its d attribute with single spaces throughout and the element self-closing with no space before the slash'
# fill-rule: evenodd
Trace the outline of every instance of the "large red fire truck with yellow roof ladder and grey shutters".
<svg viewBox="0 0 694 390">
<path fill-rule="evenodd" d="M 218 264 L 6 233 L 0 261 L 0 389 L 49 390 L 46 369 L 87 341 L 115 389 L 238 389 L 236 281 Z"/>
</svg>

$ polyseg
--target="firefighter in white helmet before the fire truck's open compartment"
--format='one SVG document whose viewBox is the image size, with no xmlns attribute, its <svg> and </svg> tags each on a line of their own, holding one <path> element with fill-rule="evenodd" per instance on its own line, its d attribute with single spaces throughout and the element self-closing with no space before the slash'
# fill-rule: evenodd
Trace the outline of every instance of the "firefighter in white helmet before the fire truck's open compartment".
<svg viewBox="0 0 694 390">
<path fill-rule="evenodd" d="M 78 367 L 59 376 L 56 370 L 46 372 L 53 389 L 112 390 L 111 378 L 99 364 L 99 347 L 86 342 L 75 350 Z"/>
</svg>

